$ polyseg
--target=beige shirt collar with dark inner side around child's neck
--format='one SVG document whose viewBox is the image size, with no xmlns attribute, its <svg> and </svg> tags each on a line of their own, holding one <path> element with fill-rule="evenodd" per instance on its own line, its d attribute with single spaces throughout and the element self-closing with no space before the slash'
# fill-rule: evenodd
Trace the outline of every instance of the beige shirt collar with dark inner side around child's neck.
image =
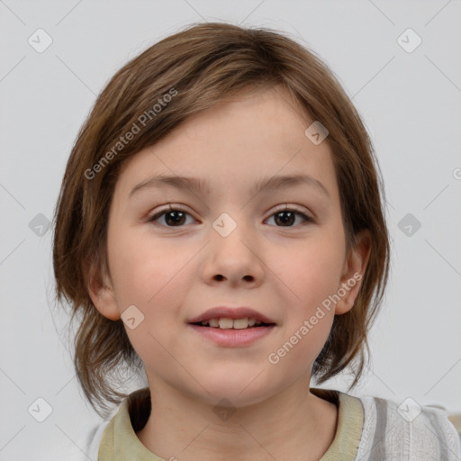
<svg viewBox="0 0 461 461">
<path fill-rule="evenodd" d="M 335 438 L 320 461 L 354 461 L 364 424 L 364 409 L 360 399 L 347 393 L 320 388 L 311 388 L 311 392 L 335 403 L 339 409 Z M 98 460 L 168 461 L 149 451 L 136 436 L 136 432 L 149 419 L 149 412 L 149 388 L 131 393 L 104 429 Z"/>
</svg>

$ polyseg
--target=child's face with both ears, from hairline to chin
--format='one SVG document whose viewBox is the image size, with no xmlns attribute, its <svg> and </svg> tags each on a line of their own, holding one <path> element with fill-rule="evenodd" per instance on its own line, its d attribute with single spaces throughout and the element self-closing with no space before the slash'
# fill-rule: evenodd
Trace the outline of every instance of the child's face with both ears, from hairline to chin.
<svg viewBox="0 0 461 461">
<path fill-rule="evenodd" d="M 309 383 L 365 259 L 346 253 L 330 148 L 305 136 L 311 123 L 273 88 L 195 116 L 124 163 L 109 216 L 110 278 L 91 289 L 108 318 L 131 306 L 122 319 L 149 384 L 238 407 Z M 217 343 L 189 323 L 216 306 L 246 306 L 275 325 L 248 344 Z"/>
</svg>

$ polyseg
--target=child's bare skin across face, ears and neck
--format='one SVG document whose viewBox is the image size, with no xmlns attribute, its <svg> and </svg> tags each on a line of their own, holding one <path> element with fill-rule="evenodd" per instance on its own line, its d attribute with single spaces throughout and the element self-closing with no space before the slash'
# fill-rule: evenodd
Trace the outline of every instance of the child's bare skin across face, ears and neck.
<svg viewBox="0 0 461 461">
<path fill-rule="evenodd" d="M 330 147 L 304 135 L 311 123 L 283 88 L 244 94 L 194 116 L 122 167 L 109 216 L 110 276 L 92 276 L 88 290 L 109 319 L 132 304 L 144 315 L 134 330 L 125 326 L 153 407 L 137 436 L 164 459 L 318 460 L 335 437 L 337 407 L 306 389 L 334 315 L 352 308 L 360 283 L 276 365 L 267 359 L 341 284 L 364 274 L 369 256 L 367 233 L 346 252 Z M 260 177 L 300 172 L 330 196 L 305 183 L 249 192 Z M 129 198 L 158 174 L 205 178 L 212 192 L 163 185 Z M 167 203 L 188 213 L 179 227 L 171 213 L 149 221 Z M 276 219 L 280 204 L 314 221 L 296 215 L 284 224 Z M 227 237 L 212 227 L 222 212 L 237 223 Z M 217 346 L 187 324 L 217 305 L 252 307 L 276 328 L 245 348 Z M 236 410 L 228 420 L 213 411 L 223 398 Z"/>
</svg>

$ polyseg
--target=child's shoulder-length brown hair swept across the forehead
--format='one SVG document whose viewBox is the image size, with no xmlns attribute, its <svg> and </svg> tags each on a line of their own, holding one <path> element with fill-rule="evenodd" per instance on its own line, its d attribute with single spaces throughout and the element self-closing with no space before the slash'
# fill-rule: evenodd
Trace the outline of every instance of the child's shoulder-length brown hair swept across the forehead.
<svg viewBox="0 0 461 461">
<path fill-rule="evenodd" d="M 96 411 L 96 404 L 106 409 L 107 402 L 120 403 L 125 396 L 115 390 L 111 375 L 122 364 L 140 366 L 122 320 L 98 312 L 86 288 L 88 261 L 109 273 L 108 212 L 122 162 L 213 104 L 246 89 L 274 86 L 285 88 L 312 121 L 329 131 L 347 248 L 354 246 L 360 230 L 371 235 L 356 303 L 335 316 L 312 367 L 321 384 L 355 365 L 349 389 L 357 384 L 365 351 L 369 353 L 366 335 L 387 284 L 390 253 L 384 187 L 366 129 L 330 69 L 283 32 L 230 23 L 192 24 L 149 47 L 112 77 L 78 133 L 60 189 L 53 242 L 56 294 L 70 303 L 71 321 L 79 314 L 74 363 Z M 139 134 L 122 147 L 117 144 L 135 125 L 140 128 L 140 120 Z"/>
</svg>

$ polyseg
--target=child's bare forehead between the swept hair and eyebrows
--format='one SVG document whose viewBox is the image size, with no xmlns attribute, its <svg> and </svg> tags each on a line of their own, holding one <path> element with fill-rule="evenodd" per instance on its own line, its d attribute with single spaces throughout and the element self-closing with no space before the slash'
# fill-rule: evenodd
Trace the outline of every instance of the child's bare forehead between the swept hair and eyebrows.
<svg viewBox="0 0 461 461">
<path fill-rule="evenodd" d="M 153 175 L 193 176 L 212 189 L 255 186 L 258 178 L 305 174 L 332 195 L 336 179 L 328 142 L 305 135 L 312 124 L 281 87 L 246 92 L 191 116 L 154 146 L 125 161 L 117 187 L 132 187 Z"/>
</svg>

